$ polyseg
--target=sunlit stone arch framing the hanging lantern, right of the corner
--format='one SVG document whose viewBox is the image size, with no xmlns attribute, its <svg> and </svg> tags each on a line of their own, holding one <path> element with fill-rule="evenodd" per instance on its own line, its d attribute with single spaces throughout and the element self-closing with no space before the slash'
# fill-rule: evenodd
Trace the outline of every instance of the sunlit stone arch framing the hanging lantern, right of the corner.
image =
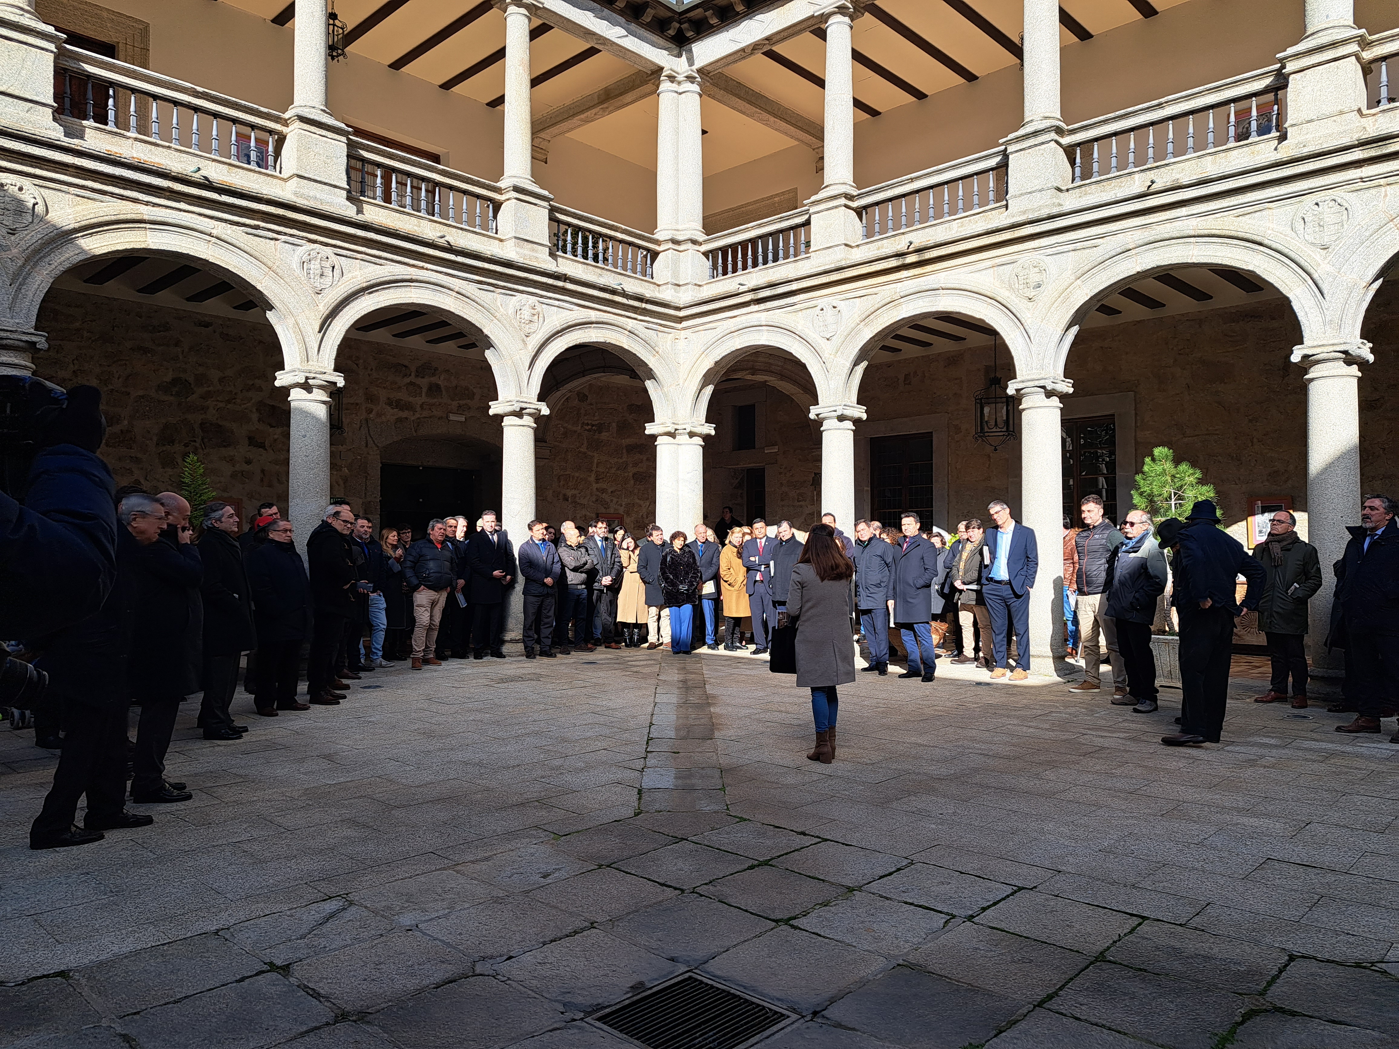
<svg viewBox="0 0 1399 1049">
<path fill-rule="evenodd" d="M 1034 359 L 1031 329 L 1020 312 L 995 292 L 975 285 L 946 284 L 883 297 L 852 323 L 837 351 L 832 371 L 839 376 L 832 403 L 859 403 L 860 380 L 880 344 L 900 329 L 935 313 L 961 313 L 995 329 L 1010 352 L 1017 375 Z"/>
</svg>

